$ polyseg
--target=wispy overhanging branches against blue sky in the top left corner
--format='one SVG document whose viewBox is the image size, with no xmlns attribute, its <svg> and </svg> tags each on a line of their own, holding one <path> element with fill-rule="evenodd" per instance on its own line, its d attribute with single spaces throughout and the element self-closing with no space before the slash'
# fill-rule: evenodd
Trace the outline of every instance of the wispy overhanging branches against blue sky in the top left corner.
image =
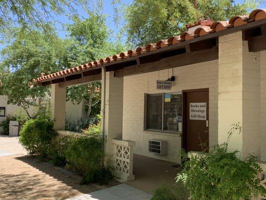
<svg viewBox="0 0 266 200">
<path fill-rule="evenodd" d="M 48 22 L 66 11 L 76 13 L 75 7 L 88 7 L 90 0 L 0 0 L 0 32 L 8 33 L 14 25 L 50 31 Z"/>
</svg>

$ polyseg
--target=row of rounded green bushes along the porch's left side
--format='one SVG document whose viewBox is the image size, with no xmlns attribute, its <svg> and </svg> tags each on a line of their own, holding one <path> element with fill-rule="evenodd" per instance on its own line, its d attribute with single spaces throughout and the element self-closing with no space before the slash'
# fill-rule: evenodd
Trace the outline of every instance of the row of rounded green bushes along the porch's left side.
<svg viewBox="0 0 266 200">
<path fill-rule="evenodd" d="M 83 175 L 81 184 L 106 184 L 112 179 L 114 168 L 111 158 L 102 151 L 104 139 L 99 127 L 100 123 L 92 125 L 91 130 L 86 129 L 86 136 L 58 137 L 53 130 L 53 121 L 38 116 L 25 122 L 19 142 L 30 155 Z"/>
</svg>

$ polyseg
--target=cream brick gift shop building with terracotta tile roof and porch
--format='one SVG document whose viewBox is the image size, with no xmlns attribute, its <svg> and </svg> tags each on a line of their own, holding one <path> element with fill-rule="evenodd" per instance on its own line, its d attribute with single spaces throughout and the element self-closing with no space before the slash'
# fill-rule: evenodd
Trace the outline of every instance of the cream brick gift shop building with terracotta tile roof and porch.
<svg viewBox="0 0 266 200">
<path fill-rule="evenodd" d="M 139 177 L 135 155 L 180 164 L 182 148 L 208 151 L 239 123 L 242 132 L 229 149 L 243 159 L 258 156 L 265 185 L 266 9 L 186 27 L 156 43 L 41 74 L 36 83 L 52 87 L 54 128 L 64 132 L 65 87 L 101 80 L 105 151 L 114 153 L 116 176 Z"/>
</svg>

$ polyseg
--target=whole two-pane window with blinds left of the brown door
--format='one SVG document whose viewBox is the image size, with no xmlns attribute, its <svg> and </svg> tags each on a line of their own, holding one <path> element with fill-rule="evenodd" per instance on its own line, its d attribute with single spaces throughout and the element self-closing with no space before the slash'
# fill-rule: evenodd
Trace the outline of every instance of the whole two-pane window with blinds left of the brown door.
<svg viewBox="0 0 266 200">
<path fill-rule="evenodd" d="M 182 131 L 182 94 L 180 92 L 147 94 L 146 129 Z"/>
</svg>

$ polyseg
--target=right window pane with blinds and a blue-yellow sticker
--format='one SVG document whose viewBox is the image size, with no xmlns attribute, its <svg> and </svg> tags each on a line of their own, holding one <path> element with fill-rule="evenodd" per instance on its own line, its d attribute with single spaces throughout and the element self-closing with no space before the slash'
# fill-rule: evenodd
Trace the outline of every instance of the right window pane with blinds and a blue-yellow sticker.
<svg viewBox="0 0 266 200">
<path fill-rule="evenodd" d="M 182 94 L 164 94 L 164 130 L 181 131 L 182 128 Z"/>
</svg>

